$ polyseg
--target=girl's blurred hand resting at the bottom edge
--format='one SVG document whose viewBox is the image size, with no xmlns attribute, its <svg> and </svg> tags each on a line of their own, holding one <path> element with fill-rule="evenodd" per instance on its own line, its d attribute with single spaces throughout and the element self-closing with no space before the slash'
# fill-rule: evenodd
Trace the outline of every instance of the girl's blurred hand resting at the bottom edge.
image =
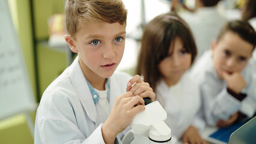
<svg viewBox="0 0 256 144">
<path fill-rule="evenodd" d="M 208 143 L 206 140 L 203 140 L 200 134 L 198 134 L 197 128 L 190 126 L 187 128 L 187 130 L 184 132 L 182 137 L 183 143 Z"/>
</svg>

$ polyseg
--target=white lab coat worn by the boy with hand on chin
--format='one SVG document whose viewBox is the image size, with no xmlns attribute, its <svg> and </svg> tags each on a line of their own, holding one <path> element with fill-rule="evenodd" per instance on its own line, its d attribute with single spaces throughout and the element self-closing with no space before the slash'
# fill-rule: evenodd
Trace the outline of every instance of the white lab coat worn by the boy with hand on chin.
<svg viewBox="0 0 256 144">
<path fill-rule="evenodd" d="M 192 76 L 197 77 L 203 98 L 204 114 L 207 124 L 215 126 L 219 119 L 227 120 L 232 114 L 240 111 L 249 118 L 256 110 L 256 80 L 253 76 L 252 63 L 243 69 L 242 76 L 246 80 L 246 87 L 242 93 L 247 94 L 243 101 L 239 101 L 227 92 L 227 83 L 218 78 L 213 67 L 212 52 L 209 50 L 195 64 Z"/>
</svg>

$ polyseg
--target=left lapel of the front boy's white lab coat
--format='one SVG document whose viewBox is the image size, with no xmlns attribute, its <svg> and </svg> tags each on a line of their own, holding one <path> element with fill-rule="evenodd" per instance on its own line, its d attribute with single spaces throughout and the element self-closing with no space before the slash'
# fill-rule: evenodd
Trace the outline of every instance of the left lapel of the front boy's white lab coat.
<svg viewBox="0 0 256 144">
<path fill-rule="evenodd" d="M 91 91 L 87 82 L 85 80 L 85 76 L 82 73 L 81 67 L 78 62 L 78 57 L 74 60 L 73 64 L 70 65 L 73 67 L 73 71 L 70 72 L 70 78 L 76 90 L 76 93 L 81 100 L 82 106 L 84 106 L 85 111 L 87 112 L 88 117 L 91 121 L 95 122 L 96 127 L 100 124 L 100 120 L 97 114 L 96 106 L 93 101 L 93 97 L 91 96 Z M 81 79 L 84 77 L 84 79 Z"/>
</svg>

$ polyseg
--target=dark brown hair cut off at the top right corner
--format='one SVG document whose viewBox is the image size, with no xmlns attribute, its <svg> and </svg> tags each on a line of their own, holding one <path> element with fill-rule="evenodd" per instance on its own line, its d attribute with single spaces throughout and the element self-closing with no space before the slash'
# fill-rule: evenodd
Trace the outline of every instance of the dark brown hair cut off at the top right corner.
<svg viewBox="0 0 256 144">
<path fill-rule="evenodd" d="M 243 20 L 249 20 L 252 17 L 256 17 L 256 1 L 247 0 L 242 13 Z"/>
</svg>

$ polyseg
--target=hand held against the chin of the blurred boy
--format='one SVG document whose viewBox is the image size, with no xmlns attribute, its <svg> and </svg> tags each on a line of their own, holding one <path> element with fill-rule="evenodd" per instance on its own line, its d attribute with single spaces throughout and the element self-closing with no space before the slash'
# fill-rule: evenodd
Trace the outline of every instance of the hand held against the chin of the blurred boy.
<svg viewBox="0 0 256 144">
<path fill-rule="evenodd" d="M 242 76 L 241 73 L 234 72 L 232 74 L 228 74 L 223 72 L 222 77 L 227 82 L 228 88 L 230 88 L 232 91 L 239 94 L 243 88 L 246 86 L 245 78 Z"/>
</svg>

